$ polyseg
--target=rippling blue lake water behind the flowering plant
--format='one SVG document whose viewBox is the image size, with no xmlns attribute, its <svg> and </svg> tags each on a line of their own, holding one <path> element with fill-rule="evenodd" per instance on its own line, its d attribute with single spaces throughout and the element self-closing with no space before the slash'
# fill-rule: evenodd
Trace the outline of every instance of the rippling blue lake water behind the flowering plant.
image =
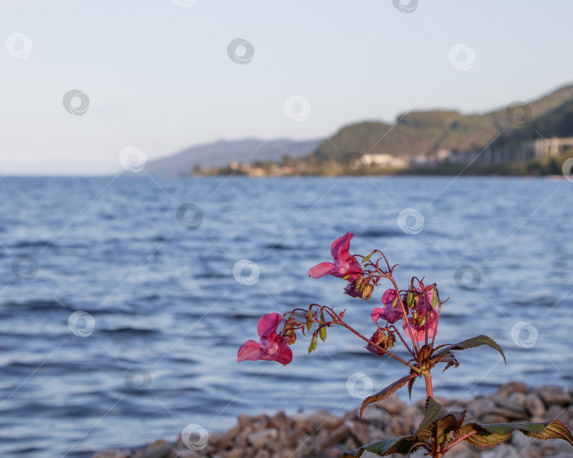
<svg viewBox="0 0 573 458">
<path fill-rule="evenodd" d="M 4 178 L 0 193 L 1 456 L 81 457 L 175 440 L 191 423 L 224 430 L 238 413 L 356 407 L 352 389 L 406 372 L 342 329 L 311 356 L 308 340 L 297 343 L 287 367 L 236 363 L 265 312 L 330 304 L 374 331 L 383 288 L 361 303 L 341 294 L 344 282 L 307 276 L 349 231 L 353 253 L 383 249 L 403 285 L 425 275 L 450 297 L 438 342 L 487 334 L 505 349 L 507 366 L 490 349 L 461 353 L 459 368 L 434 375 L 436 394 L 573 380 L 565 180 Z M 180 211 L 180 223 L 182 204 L 202 216 Z M 400 229 L 404 209 L 422 214 L 423 224 L 405 222 L 419 233 Z M 18 265 L 20 255 L 32 259 Z M 254 263 L 249 284 L 233 276 L 243 259 Z M 472 288 L 456 284 L 463 265 L 480 274 L 477 288 L 467 276 Z M 88 315 L 74 324 L 78 311 Z M 362 380 L 350 391 L 349 377 Z"/>
</svg>

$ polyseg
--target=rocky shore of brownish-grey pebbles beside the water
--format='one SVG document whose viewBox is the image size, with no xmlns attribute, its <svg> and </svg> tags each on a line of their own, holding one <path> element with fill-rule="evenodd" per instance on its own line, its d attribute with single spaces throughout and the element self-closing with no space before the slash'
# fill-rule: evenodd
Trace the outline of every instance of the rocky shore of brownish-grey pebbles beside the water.
<svg viewBox="0 0 573 458">
<path fill-rule="evenodd" d="M 529 389 L 521 382 L 511 382 L 487 397 L 468 401 L 438 399 L 453 411 L 468 411 L 468 421 L 503 423 L 507 421 L 563 421 L 573 430 L 572 397 L 561 387 L 545 386 Z M 361 423 L 358 411 L 334 416 L 325 411 L 282 412 L 273 416 L 238 417 L 237 425 L 226 432 L 209 437 L 181 437 L 175 442 L 160 439 L 139 450 L 107 450 L 93 458 L 338 458 L 374 440 L 407 435 L 419 423 L 424 402 L 403 402 L 393 395 L 372 404 L 364 411 Z M 195 440 L 195 445 L 190 443 Z M 203 447 L 201 450 L 193 448 Z M 200 443 L 199 443 L 200 442 Z M 366 457 L 376 455 L 364 453 Z M 403 455 L 392 455 L 392 457 Z M 412 456 L 422 456 L 415 453 Z M 451 458 L 573 458 L 573 447 L 562 440 L 531 440 L 517 432 L 511 440 L 490 450 L 479 450 L 461 442 L 446 455 Z"/>
</svg>

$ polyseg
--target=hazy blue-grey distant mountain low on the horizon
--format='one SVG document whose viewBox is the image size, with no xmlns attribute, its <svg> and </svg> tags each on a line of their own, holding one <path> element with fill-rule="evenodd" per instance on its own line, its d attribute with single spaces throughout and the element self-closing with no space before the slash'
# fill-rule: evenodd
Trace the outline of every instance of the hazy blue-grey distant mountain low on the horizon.
<svg viewBox="0 0 573 458">
<path fill-rule="evenodd" d="M 320 143 L 322 140 L 220 140 L 215 143 L 192 146 L 167 158 L 150 160 L 139 175 L 170 177 L 189 175 L 196 164 L 202 168 L 211 168 L 225 167 L 233 161 L 238 163 L 253 163 L 255 160 L 279 162 L 283 155 L 290 155 L 291 158 L 309 155 Z"/>
</svg>

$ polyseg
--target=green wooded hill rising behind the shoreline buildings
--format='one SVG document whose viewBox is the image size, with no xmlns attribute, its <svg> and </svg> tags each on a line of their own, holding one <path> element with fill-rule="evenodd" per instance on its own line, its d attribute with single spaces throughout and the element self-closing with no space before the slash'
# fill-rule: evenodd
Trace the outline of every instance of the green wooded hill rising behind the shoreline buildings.
<svg viewBox="0 0 573 458">
<path fill-rule="evenodd" d="M 412 158 L 441 149 L 475 151 L 485 148 L 497 136 L 495 146 L 538 138 L 536 131 L 545 137 L 573 136 L 573 85 L 513 112 L 505 107 L 469 115 L 435 110 L 404 114 L 395 124 L 352 124 L 323 141 L 314 156 L 318 160 L 340 160 L 345 153 L 356 151 Z"/>
</svg>

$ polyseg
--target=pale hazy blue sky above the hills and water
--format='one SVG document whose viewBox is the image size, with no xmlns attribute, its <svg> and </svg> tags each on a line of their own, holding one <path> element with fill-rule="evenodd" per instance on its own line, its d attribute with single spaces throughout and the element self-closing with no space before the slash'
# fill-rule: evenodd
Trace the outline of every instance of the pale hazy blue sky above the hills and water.
<svg viewBox="0 0 573 458">
<path fill-rule="evenodd" d="M 399 6 L 0 0 L 0 171 L 114 172 L 129 146 L 150 160 L 217 139 L 314 139 L 573 82 L 571 1 Z"/>
</svg>

